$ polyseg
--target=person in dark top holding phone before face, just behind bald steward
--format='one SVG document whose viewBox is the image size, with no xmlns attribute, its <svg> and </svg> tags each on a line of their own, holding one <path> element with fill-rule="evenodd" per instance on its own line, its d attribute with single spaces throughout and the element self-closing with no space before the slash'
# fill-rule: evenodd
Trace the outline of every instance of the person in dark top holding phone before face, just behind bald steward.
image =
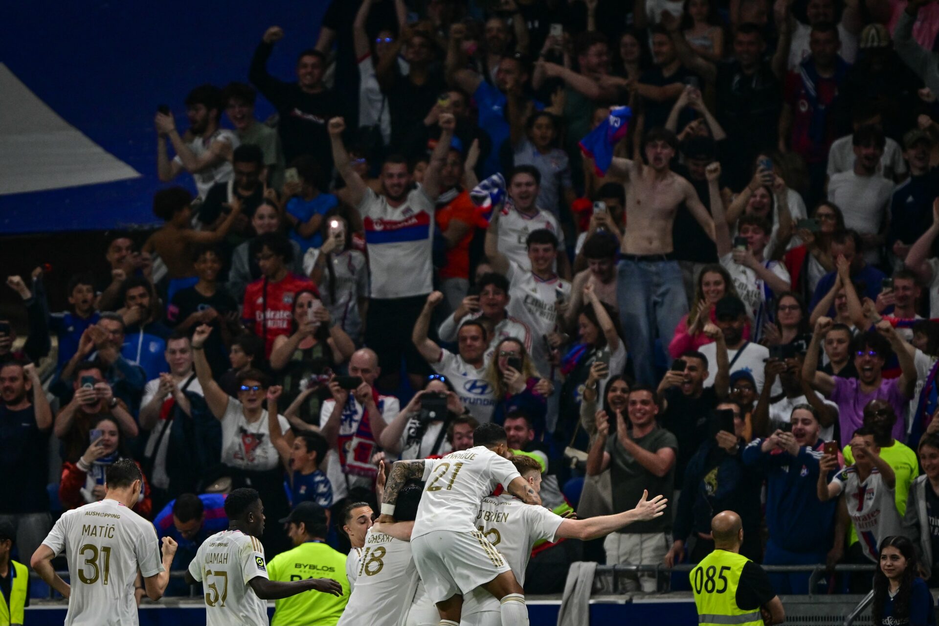
<svg viewBox="0 0 939 626">
<path fill-rule="evenodd" d="M 718 411 L 733 411 L 733 432 L 720 428 Z M 740 554 L 760 562 L 760 487 L 762 476 L 747 471 L 742 453 L 746 447 L 743 438 L 747 422 L 740 405 L 722 402 L 711 415 L 711 436 L 685 466 L 685 480 L 672 527 L 674 542 L 665 556 L 665 564 L 672 567 L 682 560 L 685 543 L 694 536 L 695 542 L 688 555 L 691 563 L 698 563 L 714 551 L 711 538 L 711 519 L 714 511 L 725 511 L 731 505 L 740 514 L 744 524 L 744 543 Z"/>
</svg>

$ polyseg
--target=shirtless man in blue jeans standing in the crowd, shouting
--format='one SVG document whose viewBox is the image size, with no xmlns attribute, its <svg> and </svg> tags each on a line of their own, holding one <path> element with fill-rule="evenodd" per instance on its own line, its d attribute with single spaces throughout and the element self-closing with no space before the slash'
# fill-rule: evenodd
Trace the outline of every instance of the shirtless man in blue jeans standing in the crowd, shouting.
<svg viewBox="0 0 939 626">
<path fill-rule="evenodd" d="M 674 259 L 671 227 L 683 203 L 714 238 L 714 221 L 694 188 L 670 169 L 678 147 L 670 130 L 646 133 L 642 153 L 648 164 L 613 158 L 608 175 L 626 179 L 626 224 L 618 266 L 616 293 L 623 339 L 632 353 L 637 382 L 654 385 L 655 328 L 668 345 L 688 303 L 682 269 Z M 712 191 L 713 193 L 713 191 Z M 711 202 L 720 202 L 719 195 Z"/>
</svg>

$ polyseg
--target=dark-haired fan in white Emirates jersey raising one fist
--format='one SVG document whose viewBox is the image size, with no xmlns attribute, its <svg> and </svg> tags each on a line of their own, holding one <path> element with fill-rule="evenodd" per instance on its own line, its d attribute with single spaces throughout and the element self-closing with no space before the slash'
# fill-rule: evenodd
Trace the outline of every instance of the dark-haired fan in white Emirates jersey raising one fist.
<svg viewBox="0 0 939 626">
<path fill-rule="evenodd" d="M 499 220 L 493 213 L 485 232 L 485 255 L 500 274 L 509 280 L 508 312 L 531 329 L 531 359 L 535 369 L 543 376 L 550 375 L 550 355 L 545 337 L 561 328 L 559 311 L 571 299 L 571 283 L 554 272 L 554 260 L 566 258 L 554 233 L 546 230 L 531 231 L 526 239 L 531 269 L 519 266 L 497 247 Z"/>
</svg>

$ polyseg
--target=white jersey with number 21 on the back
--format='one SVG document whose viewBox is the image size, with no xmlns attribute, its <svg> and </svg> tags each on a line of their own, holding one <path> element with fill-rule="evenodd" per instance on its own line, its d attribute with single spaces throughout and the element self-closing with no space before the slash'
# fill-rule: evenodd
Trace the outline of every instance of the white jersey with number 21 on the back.
<svg viewBox="0 0 939 626">
<path fill-rule="evenodd" d="M 452 452 L 442 459 L 424 461 L 424 487 L 411 539 L 434 530 L 471 532 L 480 502 L 496 485 L 518 478 L 507 459 L 483 446 Z"/>
</svg>

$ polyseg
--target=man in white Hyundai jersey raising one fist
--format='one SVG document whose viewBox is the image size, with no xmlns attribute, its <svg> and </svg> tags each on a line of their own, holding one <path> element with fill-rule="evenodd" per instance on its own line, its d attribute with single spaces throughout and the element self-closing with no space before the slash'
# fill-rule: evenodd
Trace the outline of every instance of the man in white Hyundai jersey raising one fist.
<svg viewBox="0 0 939 626">
<path fill-rule="evenodd" d="M 470 319 L 456 331 L 458 354 L 441 348 L 427 337 L 427 329 L 434 308 L 442 300 L 443 294 L 439 291 L 427 297 L 411 333 L 411 341 L 434 371 L 443 374 L 450 382 L 460 402 L 469 409 L 469 414 L 480 422 L 491 421 L 496 397 L 492 386 L 485 381 L 488 331 L 482 322 Z"/>
</svg>

